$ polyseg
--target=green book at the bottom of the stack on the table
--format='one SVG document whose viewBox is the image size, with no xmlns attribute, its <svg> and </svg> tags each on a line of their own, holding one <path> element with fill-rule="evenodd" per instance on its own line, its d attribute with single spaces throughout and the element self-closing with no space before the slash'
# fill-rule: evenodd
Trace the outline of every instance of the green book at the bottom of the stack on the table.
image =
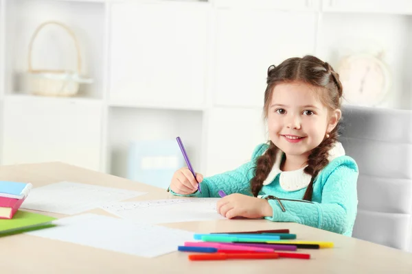
<svg viewBox="0 0 412 274">
<path fill-rule="evenodd" d="M 0 237 L 54 227 L 54 217 L 17 210 L 12 219 L 0 219 Z"/>
</svg>

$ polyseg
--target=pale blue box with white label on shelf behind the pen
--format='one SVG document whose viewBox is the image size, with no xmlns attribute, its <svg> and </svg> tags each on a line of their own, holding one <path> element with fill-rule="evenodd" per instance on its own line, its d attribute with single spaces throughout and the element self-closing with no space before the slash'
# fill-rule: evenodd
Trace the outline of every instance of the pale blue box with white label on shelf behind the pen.
<svg viewBox="0 0 412 274">
<path fill-rule="evenodd" d="M 130 142 L 127 178 L 159 188 L 168 188 L 174 172 L 185 166 L 176 140 Z"/>
</svg>

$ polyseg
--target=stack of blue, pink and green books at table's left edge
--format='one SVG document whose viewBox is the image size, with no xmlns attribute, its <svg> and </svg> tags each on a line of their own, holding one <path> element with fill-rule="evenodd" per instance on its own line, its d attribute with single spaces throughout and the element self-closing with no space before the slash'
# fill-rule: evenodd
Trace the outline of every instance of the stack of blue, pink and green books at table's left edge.
<svg viewBox="0 0 412 274">
<path fill-rule="evenodd" d="M 19 210 L 32 184 L 0 181 L 0 237 L 54 226 L 56 218 Z"/>
</svg>

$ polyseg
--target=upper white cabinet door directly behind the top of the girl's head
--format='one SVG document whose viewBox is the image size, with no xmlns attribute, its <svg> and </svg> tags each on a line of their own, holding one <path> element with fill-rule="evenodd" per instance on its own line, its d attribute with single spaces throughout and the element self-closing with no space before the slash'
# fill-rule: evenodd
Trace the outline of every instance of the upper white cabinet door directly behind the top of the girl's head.
<svg viewBox="0 0 412 274">
<path fill-rule="evenodd" d="M 216 105 L 262 107 L 268 66 L 314 52 L 314 12 L 218 10 Z"/>
</svg>

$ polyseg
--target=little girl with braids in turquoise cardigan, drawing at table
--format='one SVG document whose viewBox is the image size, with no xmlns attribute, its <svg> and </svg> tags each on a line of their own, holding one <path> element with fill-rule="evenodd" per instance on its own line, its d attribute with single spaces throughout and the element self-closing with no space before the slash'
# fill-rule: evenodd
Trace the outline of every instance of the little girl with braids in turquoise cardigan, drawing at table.
<svg viewBox="0 0 412 274">
<path fill-rule="evenodd" d="M 327 62 L 308 55 L 269 66 L 266 82 L 268 144 L 255 147 L 251 160 L 238 169 L 205 179 L 179 169 L 171 192 L 219 197 L 223 190 L 227 196 L 218 201 L 217 210 L 228 219 L 264 217 L 352 236 L 358 166 L 338 142 L 339 75 Z"/>
</svg>

